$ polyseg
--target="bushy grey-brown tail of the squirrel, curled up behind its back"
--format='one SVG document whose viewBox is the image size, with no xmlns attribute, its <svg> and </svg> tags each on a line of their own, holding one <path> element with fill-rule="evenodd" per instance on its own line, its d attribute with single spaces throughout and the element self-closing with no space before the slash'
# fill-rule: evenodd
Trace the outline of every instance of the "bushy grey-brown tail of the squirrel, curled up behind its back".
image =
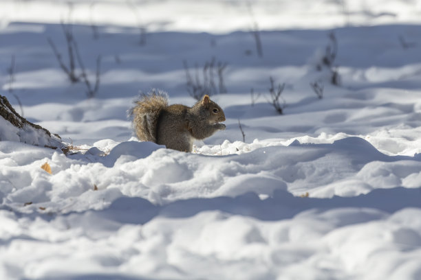
<svg viewBox="0 0 421 280">
<path fill-rule="evenodd" d="M 153 89 L 150 93 L 142 93 L 133 102 L 135 106 L 129 110 L 133 115 L 133 128 L 141 141 L 156 143 L 156 127 L 161 110 L 168 106 L 168 95 L 164 91 Z"/>
</svg>

